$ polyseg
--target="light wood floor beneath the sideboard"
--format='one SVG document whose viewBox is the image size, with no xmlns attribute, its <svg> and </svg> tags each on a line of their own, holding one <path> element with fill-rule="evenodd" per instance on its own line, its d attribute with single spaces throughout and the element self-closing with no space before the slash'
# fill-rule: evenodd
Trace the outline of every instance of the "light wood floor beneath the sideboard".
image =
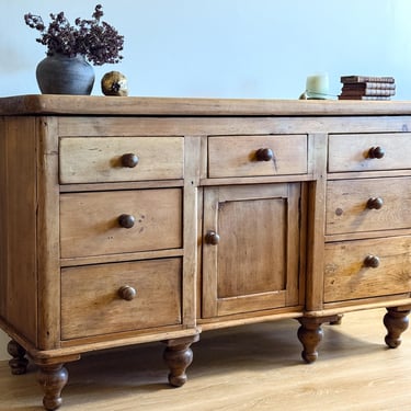
<svg viewBox="0 0 411 411">
<path fill-rule="evenodd" d="M 181 388 L 167 385 L 159 343 L 83 356 L 68 366 L 61 411 L 411 410 L 411 331 L 386 349 L 384 313 L 324 326 L 311 365 L 300 359 L 294 320 L 203 333 Z M 11 376 L 0 363 L 1 411 L 39 411 L 41 397 L 32 367 Z"/>
</svg>

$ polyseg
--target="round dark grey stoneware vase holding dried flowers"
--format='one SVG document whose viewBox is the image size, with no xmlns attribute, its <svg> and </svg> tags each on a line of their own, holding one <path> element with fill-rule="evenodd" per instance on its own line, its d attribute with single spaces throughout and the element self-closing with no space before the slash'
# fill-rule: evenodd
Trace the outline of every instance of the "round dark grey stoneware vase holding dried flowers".
<svg viewBox="0 0 411 411">
<path fill-rule="evenodd" d="M 43 94 L 91 93 L 94 84 L 94 69 L 83 56 L 47 56 L 37 65 L 36 78 Z"/>
</svg>

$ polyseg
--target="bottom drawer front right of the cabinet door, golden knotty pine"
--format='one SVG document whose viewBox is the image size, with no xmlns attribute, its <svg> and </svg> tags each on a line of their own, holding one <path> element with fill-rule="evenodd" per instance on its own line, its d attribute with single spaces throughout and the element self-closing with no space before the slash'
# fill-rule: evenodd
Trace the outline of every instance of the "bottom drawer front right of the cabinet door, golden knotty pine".
<svg viewBox="0 0 411 411">
<path fill-rule="evenodd" d="M 411 237 L 326 244 L 326 302 L 410 292 Z"/>
</svg>

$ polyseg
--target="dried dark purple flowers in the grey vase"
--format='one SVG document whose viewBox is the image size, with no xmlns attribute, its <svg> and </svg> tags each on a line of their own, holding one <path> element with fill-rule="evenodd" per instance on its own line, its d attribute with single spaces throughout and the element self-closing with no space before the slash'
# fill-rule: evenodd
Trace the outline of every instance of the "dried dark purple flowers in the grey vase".
<svg viewBox="0 0 411 411">
<path fill-rule="evenodd" d="M 47 46 L 47 56 L 62 54 L 75 57 L 80 54 L 95 66 L 118 62 L 123 58 L 119 53 L 123 50 L 124 36 L 109 23 L 100 21 L 102 9 L 101 4 L 95 5 L 91 20 L 78 18 L 75 25 L 70 24 L 62 11 L 50 13 L 48 28 L 39 15 L 25 14 L 24 21 L 42 33 L 36 42 Z"/>
</svg>

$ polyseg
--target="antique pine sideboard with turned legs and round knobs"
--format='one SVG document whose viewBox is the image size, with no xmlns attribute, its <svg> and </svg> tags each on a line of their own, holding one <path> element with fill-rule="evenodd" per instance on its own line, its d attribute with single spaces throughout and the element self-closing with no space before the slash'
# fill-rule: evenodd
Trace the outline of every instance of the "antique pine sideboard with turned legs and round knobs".
<svg viewBox="0 0 411 411">
<path fill-rule="evenodd" d="M 411 309 L 411 103 L 0 99 L 0 326 L 45 409 L 65 364 L 159 341 L 181 386 L 201 332 Z M 275 327 L 275 324 L 273 324 Z M 101 354 L 104 355 L 104 354 Z"/>
</svg>

